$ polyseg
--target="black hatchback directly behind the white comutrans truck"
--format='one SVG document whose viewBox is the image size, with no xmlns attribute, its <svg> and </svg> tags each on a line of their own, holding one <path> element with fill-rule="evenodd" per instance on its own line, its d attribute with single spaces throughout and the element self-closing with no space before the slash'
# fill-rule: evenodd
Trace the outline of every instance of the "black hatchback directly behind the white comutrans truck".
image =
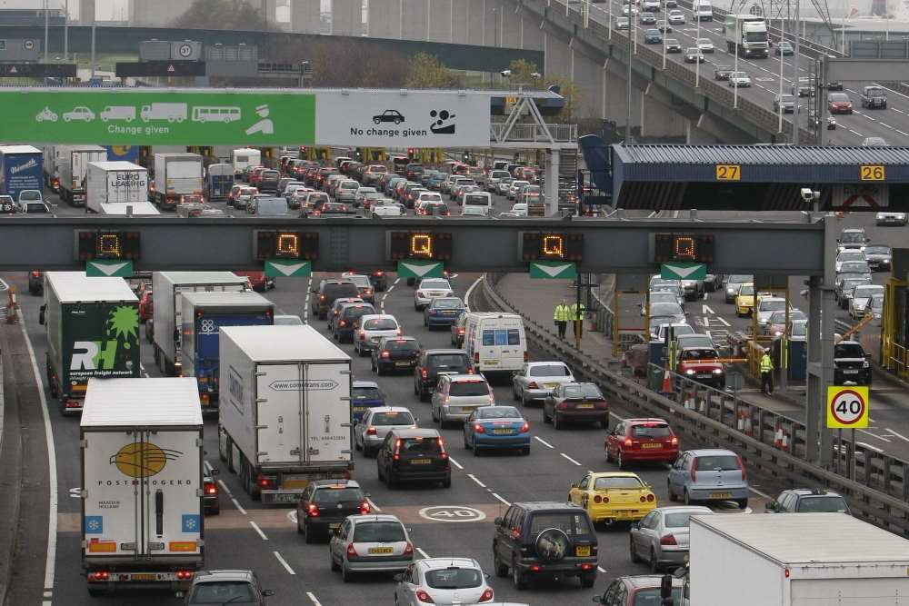
<svg viewBox="0 0 909 606">
<path fill-rule="evenodd" d="M 371 512 L 366 496 L 355 480 L 316 480 L 296 503 L 296 531 L 307 543 L 317 536 L 327 539 L 348 515 Z"/>
</svg>

